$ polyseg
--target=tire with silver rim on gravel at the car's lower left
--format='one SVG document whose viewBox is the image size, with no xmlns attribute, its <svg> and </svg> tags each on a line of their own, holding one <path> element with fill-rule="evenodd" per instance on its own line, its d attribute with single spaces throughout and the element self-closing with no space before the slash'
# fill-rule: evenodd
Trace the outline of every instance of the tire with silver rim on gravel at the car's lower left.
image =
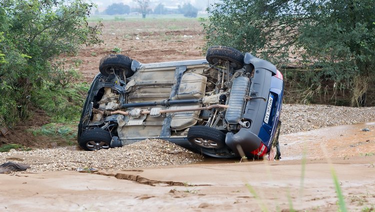
<svg viewBox="0 0 375 212">
<path fill-rule="evenodd" d="M 106 130 L 100 128 L 87 130 L 79 139 L 79 146 L 87 151 L 109 149 L 112 137 Z"/>
</svg>

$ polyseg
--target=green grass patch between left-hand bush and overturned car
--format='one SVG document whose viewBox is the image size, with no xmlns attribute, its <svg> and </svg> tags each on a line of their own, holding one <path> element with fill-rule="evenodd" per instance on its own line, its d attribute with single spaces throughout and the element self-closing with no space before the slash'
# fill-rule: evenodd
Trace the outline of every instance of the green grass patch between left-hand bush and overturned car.
<svg viewBox="0 0 375 212">
<path fill-rule="evenodd" d="M 87 95 L 87 83 L 68 83 L 65 86 L 47 84 L 35 90 L 31 102 L 51 117 L 50 123 L 28 129 L 33 136 L 48 137 L 58 145 L 76 143 L 77 122 Z"/>
</svg>

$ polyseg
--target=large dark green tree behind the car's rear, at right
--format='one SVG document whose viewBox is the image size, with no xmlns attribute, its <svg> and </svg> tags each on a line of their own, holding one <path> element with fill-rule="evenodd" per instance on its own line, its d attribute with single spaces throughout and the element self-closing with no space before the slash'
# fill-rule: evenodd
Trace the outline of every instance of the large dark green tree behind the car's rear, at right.
<svg viewBox="0 0 375 212">
<path fill-rule="evenodd" d="M 351 105 L 365 104 L 363 94 L 375 82 L 373 0 L 222 0 L 208 13 L 207 46 L 307 67 L 299 76 L 306 88 L 332 82 L 351 90 Z"/>
</svg>

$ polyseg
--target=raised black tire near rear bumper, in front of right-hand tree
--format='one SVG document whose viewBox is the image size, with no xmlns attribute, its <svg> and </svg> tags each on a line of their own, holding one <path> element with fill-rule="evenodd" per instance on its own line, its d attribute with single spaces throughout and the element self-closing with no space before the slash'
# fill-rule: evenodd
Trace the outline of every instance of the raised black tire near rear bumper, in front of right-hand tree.
<svg viewBox="0 0 375 212">
<path fill-rule="evenodd" d="M 234 70 L 243 67 L 243 54 L 237 49 L 227 46 L 211 46 L 205 55 L 209 64 L 215 64 L 221 60 L 229 61 Z"/>
</svg>

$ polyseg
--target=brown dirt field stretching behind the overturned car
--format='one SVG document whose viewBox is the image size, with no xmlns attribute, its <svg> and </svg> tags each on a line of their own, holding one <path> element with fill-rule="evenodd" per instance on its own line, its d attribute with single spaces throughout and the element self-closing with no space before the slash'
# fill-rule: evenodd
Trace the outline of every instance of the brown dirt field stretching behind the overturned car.
<svg viewBox="0 0 375 212">
<path fill-rule="evenodd" d="M 130 19 L 103 24 L 104 43 L 83 48 L 71 58 L 80 60 L 79 70 L 87 82 L 99 72 L 99 60 L 116 53 L 112 51 L 115 47 L 141 63 L 204 58 L 202 27 L 196 19 Z"/>
</svg>

